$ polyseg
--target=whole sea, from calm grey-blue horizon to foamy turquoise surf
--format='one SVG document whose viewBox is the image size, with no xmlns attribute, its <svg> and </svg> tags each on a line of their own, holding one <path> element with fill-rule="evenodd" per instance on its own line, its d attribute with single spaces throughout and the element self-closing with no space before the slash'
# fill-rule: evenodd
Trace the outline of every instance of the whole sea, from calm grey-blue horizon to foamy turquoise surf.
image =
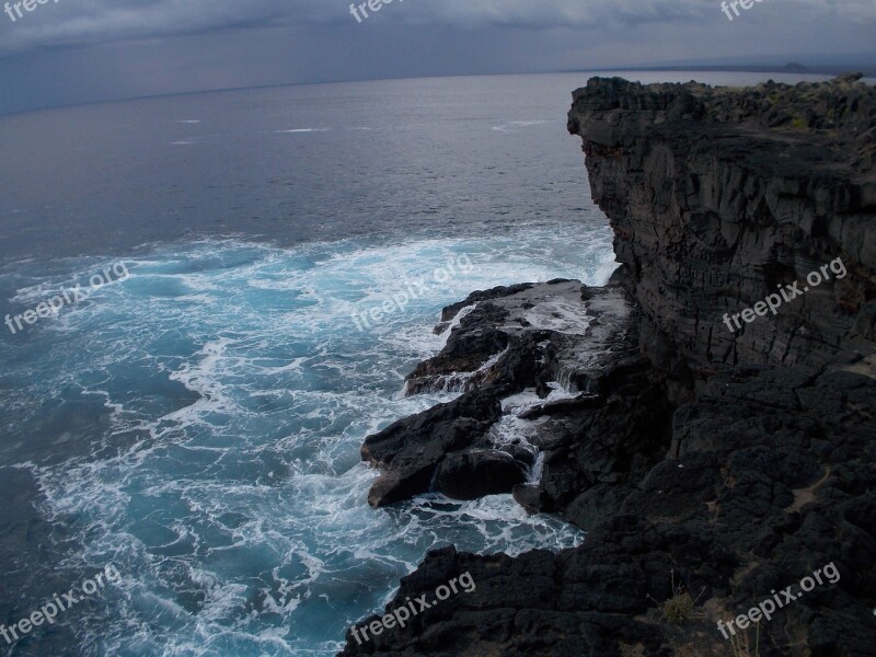
<svg viewBox="0 0 876 657">
<path fill-rule="evenodd" d="M 612 272 L 565 128 L 587 77 L 0 117 L 3 318 L 128 272 L 14 334 L 0 326 L 0 623 L 108 564 L 120 574 L 0 653 L 327 657 L 429 549 L 584 540 L 508 495 L 374 510 L 359 447 L 453 397 L 401 394 L 441 348 L 443 306 Z M 427 291 L 356 326 L 412 281 Z"/>
</svg>

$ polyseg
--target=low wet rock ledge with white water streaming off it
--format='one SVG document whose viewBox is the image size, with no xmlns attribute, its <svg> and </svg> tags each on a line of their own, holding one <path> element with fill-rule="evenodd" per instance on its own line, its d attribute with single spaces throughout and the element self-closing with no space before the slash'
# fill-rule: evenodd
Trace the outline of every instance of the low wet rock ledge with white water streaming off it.
<svg viewBox="0 0 876 657">
<path fill-rule="evenodd" d="M 362 460 L 385 471 L 371 486 L 372 506 L 430 491 L 458 499 L 510 493 L 534 464 L 528 436 L 546 431 L 543 420 L 535 431 L 533 414 L 546 418 L 604 400 L 616 355 L 636 348 L 620 287 L 553 280 L 497 288 L 449 312 L 464 316 L 445 348 L 411 373 L 407 391 L 452 384 L 462 394 L 365 440 Z"/>
</svg>

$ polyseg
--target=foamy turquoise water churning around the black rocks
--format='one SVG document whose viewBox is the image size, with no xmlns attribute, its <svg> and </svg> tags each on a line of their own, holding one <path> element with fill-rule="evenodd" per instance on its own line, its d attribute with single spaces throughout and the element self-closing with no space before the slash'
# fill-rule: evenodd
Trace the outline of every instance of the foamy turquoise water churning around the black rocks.
<svg viewBox="0 0 876 657">
<path fill-rule="evenodd" d="M 577 230 L 177 244 L 124 258 L 127 279 L 0 343 L 0 453 L 32 474 L 55 528 L 53 575 L 18 575 L 30 609 L 112 562 L 122 583 L 59 619 L 81 654 L 327 656 L 431 548 L 577 544 L 579 532 L 527 517 L 509 495 L 371 509 L 376 473 L 359 459 L 368 434 L 452 399 L 400 395 L 442 345 L 431 327 L 443 306 L 521 280 L 604 281 L 608 229 Z M 468 272 L 435 280 L 460 258 Z M 36 283 L 13 301 L 33 307 L 114 262 L 19 265 Z M 428 295 L 356 328 L 351 313 L 420 278 Z"/>
</svg>

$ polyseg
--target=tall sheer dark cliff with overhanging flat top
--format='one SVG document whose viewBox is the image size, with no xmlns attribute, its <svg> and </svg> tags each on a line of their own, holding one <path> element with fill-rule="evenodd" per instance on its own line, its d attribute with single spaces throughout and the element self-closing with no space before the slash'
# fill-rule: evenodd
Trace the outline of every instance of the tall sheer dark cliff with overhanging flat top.
<svg viewBox="0 0 876 657">
<path fill-rule="evenodd" d="M 745 90 L 593 79 L 568 127 L 658 362 L 672 346 L 694 367 L 869 356 L 876 90 L 855 77 Z M 737 327 L 771 295 L 775 313 Z"/>
</svg>

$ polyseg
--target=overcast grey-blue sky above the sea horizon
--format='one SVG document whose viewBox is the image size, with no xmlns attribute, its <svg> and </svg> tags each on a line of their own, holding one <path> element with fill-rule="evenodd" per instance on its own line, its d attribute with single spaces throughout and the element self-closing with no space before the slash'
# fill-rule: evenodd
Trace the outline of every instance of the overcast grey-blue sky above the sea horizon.
<svg viewBox="0 0 876 657">
<path fill-rule="evenodd" d="M 733 22 L 718 0 L 395 0 L 361 23 L 349 0 L 48 0 L 22 11 L 14 22 L 0 13 L 0 113 L 296 82 L 876 60 L 876 0 L 763 0 Z"/>
</svg>

